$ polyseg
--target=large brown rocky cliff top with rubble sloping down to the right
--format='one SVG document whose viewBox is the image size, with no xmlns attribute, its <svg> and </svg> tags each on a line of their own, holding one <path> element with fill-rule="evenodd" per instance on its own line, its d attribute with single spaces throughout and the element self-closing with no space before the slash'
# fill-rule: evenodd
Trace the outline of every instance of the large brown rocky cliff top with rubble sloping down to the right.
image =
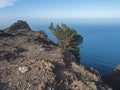
<svg viewBox="0 0 120 90">
<path fill-rule="evenodd" d="M 0 34 L 0 90 L 111 90 L 93 69 L 18 21 Z"/>
</svg>

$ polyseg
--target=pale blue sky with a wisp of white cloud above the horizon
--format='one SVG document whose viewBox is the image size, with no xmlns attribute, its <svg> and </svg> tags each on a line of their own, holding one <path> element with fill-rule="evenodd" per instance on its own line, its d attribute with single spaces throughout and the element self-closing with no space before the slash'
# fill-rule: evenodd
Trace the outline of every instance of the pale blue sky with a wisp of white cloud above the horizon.
<svg viewBox="0 0 120 90">
<path fill-rule="evenodd" d="M 120 20 L 120 0 L 0 0 L 0 24 L 19 19 Z"/>
</svg>

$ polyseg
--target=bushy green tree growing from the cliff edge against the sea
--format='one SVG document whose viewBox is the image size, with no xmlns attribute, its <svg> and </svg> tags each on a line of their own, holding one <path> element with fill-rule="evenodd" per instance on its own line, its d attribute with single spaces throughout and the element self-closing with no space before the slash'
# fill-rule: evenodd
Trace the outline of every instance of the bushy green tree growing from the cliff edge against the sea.
<svg viewBox="0 0 120 90">
<path fill-rule="evenodd" d="M 65 24 L 61 26 L 53 23 L 50 24 L 49 29 L 58 40 L 58 46 L 71 52 L 76 57 L 76 62 L 80 63 L 80 49 L 79 45 L 82 44 L 83 38 L 77 34 L 76 30 L 68 27 Z"/>
</svg>

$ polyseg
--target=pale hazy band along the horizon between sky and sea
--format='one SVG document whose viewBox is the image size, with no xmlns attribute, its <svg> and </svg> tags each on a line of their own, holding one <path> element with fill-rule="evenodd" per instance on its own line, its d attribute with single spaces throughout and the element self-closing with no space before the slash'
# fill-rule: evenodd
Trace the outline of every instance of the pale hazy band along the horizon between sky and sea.
<svg viewBox="0 0 120 90">
<path fill-rule="evenodd" d="M 120 20 L 116 19 L 38 19 L 38 20 L 27 20 L 27 19 L 18 19 L 26 21 L 30 27 L 32 26 L 49 26 L 51 22 L 54 24 L 65 23 L 67 25 L 120 25 Z M 17 22 L 16 20 L 8 20 L 0 23 L 0 29 L 5 29 L 13 23 Z M 40 27 L 39 27 L 40 28 Z"/>
</svg>

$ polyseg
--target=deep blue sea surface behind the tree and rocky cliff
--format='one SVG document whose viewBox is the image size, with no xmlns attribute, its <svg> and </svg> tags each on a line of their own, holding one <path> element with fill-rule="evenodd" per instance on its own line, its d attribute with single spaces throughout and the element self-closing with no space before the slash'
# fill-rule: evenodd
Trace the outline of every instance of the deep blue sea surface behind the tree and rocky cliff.
<svg viewBox="0 0 120 90">
<path fill-rule="evenodd" d="M 82 35 L 84 41 L 80 46 L 81 64 L 93 67 L 101 75 L 112 72 L 120 64 L 120 23 L 82 24 L 68 23 Z M 52 41 L 57 42 L 51 34 L 49 24 L 31 24 L 32 30 L 43 30 Z"/>
</svg>

